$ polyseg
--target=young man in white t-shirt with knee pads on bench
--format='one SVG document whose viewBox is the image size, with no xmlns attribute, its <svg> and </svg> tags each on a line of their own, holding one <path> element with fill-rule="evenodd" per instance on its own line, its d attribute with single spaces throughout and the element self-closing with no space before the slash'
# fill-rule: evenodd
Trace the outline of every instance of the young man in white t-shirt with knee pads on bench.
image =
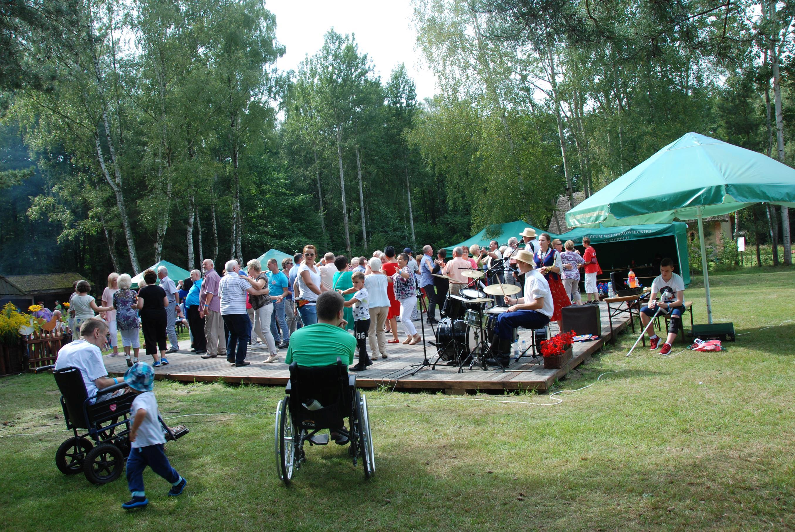
<svg viewBox="0 0 795 532">
<path fill-rule="evenodd" d="M 657 294 L 660 301 L 657 301 Z M 681 276 L 673 273 L 673 260 L 663 258 L 660 262 L 660 275 L 651 283 L 651 295 L 649 305 L 641 309 L 641 321 L 643 327 L 649 322 L 655 313 L 661 316 L 668 315 L 668 338 L 660 349 L 661 355 L 668 355 L 671 352 L 673 340 L 677 339 L 679 328 L 682 326 L 682 313 L 684 313 L 684 281 Z M 649 343 L 651 351 L 657 349 L 660 344 L 660 337 L 654 332 L 654 324 L 649 325 Z"/>
</svg>

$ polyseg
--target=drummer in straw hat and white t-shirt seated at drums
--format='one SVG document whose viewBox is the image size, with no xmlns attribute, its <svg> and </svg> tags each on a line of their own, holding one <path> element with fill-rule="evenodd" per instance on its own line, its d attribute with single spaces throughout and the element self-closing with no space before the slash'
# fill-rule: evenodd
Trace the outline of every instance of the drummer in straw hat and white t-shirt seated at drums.
<svg viewBox="0 0 795 532">
<path fill-rule="evenodd" d="M 537 329 L 549 324 L 555 309 L 549 283 L 540 272 L 535 270 L 533 254 L 527 250 L 518 250 L 514 255 L 519 273 L 525 275 L 524 297 L 506 297 L 510 305 L 506 312 L 499 314 L 494 325 L 494 336 L 491 339 L 493 359 L 487 363 L 494 366 L 507 367 L 510 360 L 510 343 L 514 339 L 514 328 Z"/>
</svg>

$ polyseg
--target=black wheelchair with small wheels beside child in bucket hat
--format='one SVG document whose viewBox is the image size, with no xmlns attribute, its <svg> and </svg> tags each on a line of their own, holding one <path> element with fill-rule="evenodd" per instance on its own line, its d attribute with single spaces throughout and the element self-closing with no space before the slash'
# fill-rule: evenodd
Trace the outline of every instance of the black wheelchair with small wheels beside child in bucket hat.
<svg viewBox="0 0 795 532">
<path fill-rule="evenodd" d="M 66 428 L 74 433 L 55 453 L 55 464 L 64 475 L 83 472 L 94 484 L 107 484 L 121 476 L 130 454 L 130 407 L 139 392 L 109 396 L 126 386 L 119 382 L 88 396 L 83 376 L 76 367 L 54 370 L 54 366 L 37 367 L 36 373 L 53 370 L 60 390 L 60 406 L 64 410 Z M 91 399 L 99 400 L 91 404 Z M 166 441 L 175 441 L 190 432 L 185 425 L 170 429 L 158 415 Z M 82 435 L 78 429 L 87 430 Z M 91 438 L 91 440 L 89 440 Z M 94 443 L 92 444 L 91 441 Z"/>
</svg>

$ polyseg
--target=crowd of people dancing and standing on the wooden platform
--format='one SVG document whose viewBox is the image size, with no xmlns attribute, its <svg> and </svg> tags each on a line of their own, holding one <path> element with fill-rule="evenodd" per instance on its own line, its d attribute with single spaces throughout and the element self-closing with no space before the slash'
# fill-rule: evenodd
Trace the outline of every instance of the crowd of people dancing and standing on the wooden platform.
<svg viewBox="0 0 795 532">
<path fill-rule="evenodd" d="M 388 246 L 369 258 L 349 258 L 331 252 L 320 255 L 308 244 L 281 263 L 275 258 L 266 264 L 257 259 L 230 260 L 218 268 L 205 258 L 201 270 L 192 270 L 188 278 L 176 282 L 165 266 L 143 272 L 137 286 L 130 275 L 112 273 L 99 301 L 89 295 L 90 283 L 76 282 L 68 311 L 56 302 L 55 312 L 68 314 L 64 328 L 75 338 L 80 338 L 80 324 L 99 313 L 109 329 L 108 356 L 122 355 L 120 342 L 128 366 L 139 361 L 141 336 L 152 365 L 169 364 L 168 356 L 180 350 L 180 325 L 188 328 L 192 353 L 246 366 L 251 347 L 267 350 L 265 363 L 277 362 L 279 351 L 289 350 L 297 329 L 316 324 L 320 295 L 333 291 L 345 301 L 340 326 L 357 342 L 359 363 L 351 369 L 362 371 L 379 357 L 388 357 L 388 344 L 418 344 L 421 335 L 414 322 L 424 314 L 429 324 L 438 324 L 437 312 L 444 308 L 448 293 L 458 295 L 464 288 L 492 283 L 524 287 L 522 264 L 541 274 L 552 305 L 512 311 L 532 310 L 560 324 L 561 309 L 582 303 L 580 270 L 584 269 L 588 302 L 598 300 L 599 265 L 587 239 L 584 246 L 580 254 L 572 241 L 561 243 L 546 233 L 537 237 L 532 227 L 502 246 L 492 240 L 483 248 L 455 247 L 451 257 L 448 250 L 434 252 L 426 245 L 419 254 L 409 247 L 399 253 Z M 472 269 L 486 275 L 477 280 L 463 274 Z M 425 313 L 420 312 L 420 299 L 425 300 Z M 522 305 L 510 297 L 494 299 L 496 305 L 509 309 Z"/>
</svg>

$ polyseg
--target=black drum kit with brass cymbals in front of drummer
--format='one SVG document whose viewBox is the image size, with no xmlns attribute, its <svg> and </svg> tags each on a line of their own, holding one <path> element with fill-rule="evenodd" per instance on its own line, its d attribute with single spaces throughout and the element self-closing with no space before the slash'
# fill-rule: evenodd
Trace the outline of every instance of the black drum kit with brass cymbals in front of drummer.
<svg viewBox="0 0 795 532">
<path fill-rule="evenodd" d="M 483 278 L 480 270 L 463 270 L 463 277 L 470 279 Z M 436 277 L 457 283 L 447 275 L 434 274 Z M 483 289 L 463 288 L 459 295 L 447 294 L 441 309 L 442 319 L 436 328 L 436 349 L 439 360 L 451 366 L 458 366 L 459 372 L 469 363 L 469 369 L 475 364 L 487 369 L 486 359 L 491 351 L 491 337 L 497 317 L 507 312 L 507 307 L 495 306 L 493 297 L 510 296 L 522 289 L 517 285 L 494 284 Z M 491 305 L 491 306 L 490 306 Z M 517 330 L 514 329 L 514 338 Z"/>
</svg>

